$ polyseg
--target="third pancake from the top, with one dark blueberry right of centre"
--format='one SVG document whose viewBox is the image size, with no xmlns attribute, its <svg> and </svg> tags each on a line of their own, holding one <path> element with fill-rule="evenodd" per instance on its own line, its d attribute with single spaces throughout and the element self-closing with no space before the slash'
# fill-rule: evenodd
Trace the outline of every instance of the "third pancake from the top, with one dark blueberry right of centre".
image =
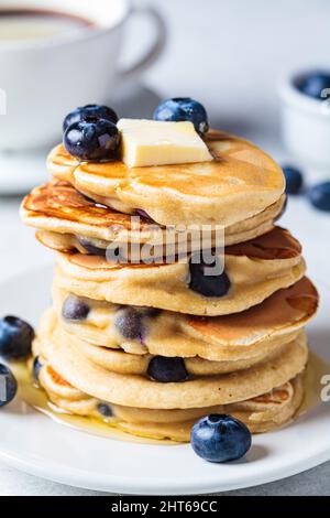
<svg viewBox="0 0 330 518">
<path fill-rule="evenodd" d="M 223 256 L 219 256 L 223 260 Z M 151 306 L 217 316 L 244 311 L 305 273 L 299 242 L 279 227 L 254 240 L 227 247 L 223 296 L 204 296 L 189 288 L 186 258 L 174 263 L 122 265 L 101 257 L 58 253 L 55 285 L 78 296 L 116 304 Z"/>
</svg>

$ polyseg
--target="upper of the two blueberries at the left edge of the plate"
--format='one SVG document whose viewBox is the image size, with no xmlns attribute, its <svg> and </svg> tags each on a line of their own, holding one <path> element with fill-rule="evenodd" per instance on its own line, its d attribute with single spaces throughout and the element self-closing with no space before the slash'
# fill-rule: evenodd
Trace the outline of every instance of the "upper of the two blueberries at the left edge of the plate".
<svg viewBox="0 0 330 518">
<path fill-rule="evenodd" d="M 26 358 L 31 354 L 34 331 L 18 316 L 0 319 L 0 356 L 8 360 Z"/>
</svg>

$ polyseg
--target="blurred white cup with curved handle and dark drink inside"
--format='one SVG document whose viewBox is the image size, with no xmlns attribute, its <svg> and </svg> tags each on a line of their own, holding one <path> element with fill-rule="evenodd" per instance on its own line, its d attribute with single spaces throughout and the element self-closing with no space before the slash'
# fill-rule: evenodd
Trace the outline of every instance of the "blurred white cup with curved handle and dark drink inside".
<svg viewBox="0 0 330 518">
<path fill-rule="evenodd" d="M 163 51 L 163 18 L 128 0 L 1 0 L 1 9 L 50 10 L 92 22 L 53 37 L 0 41 L 0 150 L 50 145 L 67 112 L 86 104 L 107 104 L 118 85 L 136 79 Z M 139 63 L 120 66 L 128 20 L 148 17 L 155 41 Z M 138 42 L 139 43 L 139 42 Z"/>
</svg>

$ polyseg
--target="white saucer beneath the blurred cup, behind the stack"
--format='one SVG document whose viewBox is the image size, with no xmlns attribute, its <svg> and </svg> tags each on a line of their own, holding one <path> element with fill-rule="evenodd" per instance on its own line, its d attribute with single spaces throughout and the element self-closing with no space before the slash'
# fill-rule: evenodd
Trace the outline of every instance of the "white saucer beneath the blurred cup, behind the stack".
<svg viewBox="0 0 330 518">
<path fill-rule="evenodd" d="M 129 85 L 109 100 L 109 106 L 120 117 L 151 118 L 158 102 L 160 97 L 153 90 L 141 85 Z M 61 128 L 58 141 L 59 139 Z M 24 194 L 35 185 L 46 182 L 48 173 L 45 162 L 51 148 L 52 143 L 48 148 L 25 153 L 0 151 L 0 195 Z"/>
</svg>

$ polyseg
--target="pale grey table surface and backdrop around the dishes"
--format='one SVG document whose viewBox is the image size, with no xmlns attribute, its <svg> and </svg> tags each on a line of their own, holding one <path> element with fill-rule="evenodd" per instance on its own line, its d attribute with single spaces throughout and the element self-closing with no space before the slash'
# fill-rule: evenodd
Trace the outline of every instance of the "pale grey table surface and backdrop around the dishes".
<svg viewBox="0 0 330 518">
<path fill-rule="evenodd" d="M 215 127 L 254 140 L 279 161 L 290 159 L 280 144 L 276 80 L 292 68 L 328 63 L 330 3 L 327 0 L 150 0 L 148 3 L 162 8 L 168 22 L 169 42 L 164 56 L 146 74 L 145 84 L 161 98 L 189 95 L 201 99 Z M 316 23 L 317 31 L 312 30 Z M 128 46 L 134 46 L 134 39 L 141 40 L 142 34 L 148 37 L 141 25 L 132 29 Z M 128 53 L 130 57 L 132 53 Z M 136 85 L 135 93 L 122 101 L 122 115 L 147 117 L 156 99 L 155 94 Z M 309 181 L 324 175 L 322 171 L 301 165 Z M 1 157 L 0 174 L 6 174 L 1 171 Z M 50 262 L 50 253 L 20 224 L 18 207 L 18 198 L 0 196 L 0 280 Z M 330 218 L 316 214 L 304 201 L 294 201 L 285 224 L 304 242 L 310 270 L 322 268 L 329 272 L 329 239 L 324 241 L 324 236 L 329 236 Z M 330 463 L 284 481 L 222 495 L 229 494 L 330 495 Z M 99 493 L 43 481 L 0 462 L 0 495 L 96 496 Z"/>
</svg>

